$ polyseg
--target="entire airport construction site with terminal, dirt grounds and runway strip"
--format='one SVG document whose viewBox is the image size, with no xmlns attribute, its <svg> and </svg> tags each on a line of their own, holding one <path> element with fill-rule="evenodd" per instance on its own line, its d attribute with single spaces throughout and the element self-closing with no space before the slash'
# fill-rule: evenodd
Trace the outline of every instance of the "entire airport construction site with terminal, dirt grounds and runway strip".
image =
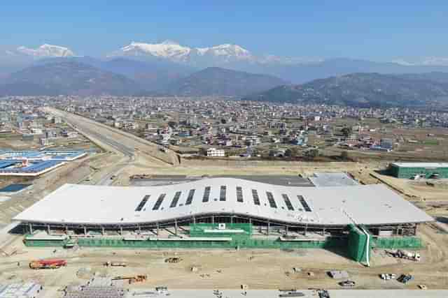
<svg viewBox="0 0 448 298">
<path fill-rule="evenodd" d="M 52 112 L 103 152 L 1 203 L 0 297 L 448 295 L 443 179 L 377 161 L 193 162 Z"/>
</svg>

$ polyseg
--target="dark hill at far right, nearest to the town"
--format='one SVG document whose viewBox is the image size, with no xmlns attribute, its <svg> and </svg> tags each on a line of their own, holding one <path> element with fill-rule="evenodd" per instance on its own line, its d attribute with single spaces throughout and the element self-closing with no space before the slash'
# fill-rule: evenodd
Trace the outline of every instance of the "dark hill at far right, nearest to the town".
<svg viewBox="0 0 448 298">
<path fill-rule="evenodd" d="M 448 103 L 447 74 L 381 75 L 352 73 L 314 80 L 305 84 L 281 85 L 246 96 L 245 100 L 276 103 L 326 103 L 356 107 L 416 106 Z M 448 82 L 448 81 L 447 81 Z"/>
</svg>

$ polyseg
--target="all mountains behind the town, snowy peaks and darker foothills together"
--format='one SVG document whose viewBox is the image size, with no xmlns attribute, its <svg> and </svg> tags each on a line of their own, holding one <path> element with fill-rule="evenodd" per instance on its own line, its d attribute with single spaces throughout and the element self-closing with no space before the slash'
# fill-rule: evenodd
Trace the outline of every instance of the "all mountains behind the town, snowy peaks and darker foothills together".
<svg viewBox="0 0 448 298">
<path fill-rule="evenodd" d="M 259 56 L 239 45 L 188 47 L 169 40 L 132 42 L 102 58 L 77 56 L 57 45 L 20 46 L 0 49 L 0 96 L 171 94 L 424 105 L 447 98 L 448 66 L 435 61 L 416 65 Z"/>
</svg>

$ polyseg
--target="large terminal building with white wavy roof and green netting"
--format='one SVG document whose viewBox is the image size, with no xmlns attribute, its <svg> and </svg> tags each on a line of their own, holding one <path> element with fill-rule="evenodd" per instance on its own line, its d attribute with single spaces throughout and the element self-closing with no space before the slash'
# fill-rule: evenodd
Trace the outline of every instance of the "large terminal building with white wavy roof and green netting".
<svg viewBox="0 0 448 298">
<path fill-rule="evenodd" d="M 367 246 L 421 246 L 417 227 L 433 221 L 380 184 L 292 187 L 233 178 L 151 187 L 66 184 L 14 219 L 27 245 L 325 248 L 370 242 L 352 246 L 357 259 L 365 258 Z"/>
</svg>

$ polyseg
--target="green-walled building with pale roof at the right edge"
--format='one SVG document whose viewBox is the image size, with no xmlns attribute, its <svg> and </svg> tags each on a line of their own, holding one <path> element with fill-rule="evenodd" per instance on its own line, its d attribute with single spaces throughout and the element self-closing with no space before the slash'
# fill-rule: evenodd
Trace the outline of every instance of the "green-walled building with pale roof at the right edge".
<svg viewBox="0 0 448 298">
<path fill-rule="evenodd" d="M 388 174 L 397 178 L 448 178 L 448 163 L 390 163 Z"/>
</svg>

